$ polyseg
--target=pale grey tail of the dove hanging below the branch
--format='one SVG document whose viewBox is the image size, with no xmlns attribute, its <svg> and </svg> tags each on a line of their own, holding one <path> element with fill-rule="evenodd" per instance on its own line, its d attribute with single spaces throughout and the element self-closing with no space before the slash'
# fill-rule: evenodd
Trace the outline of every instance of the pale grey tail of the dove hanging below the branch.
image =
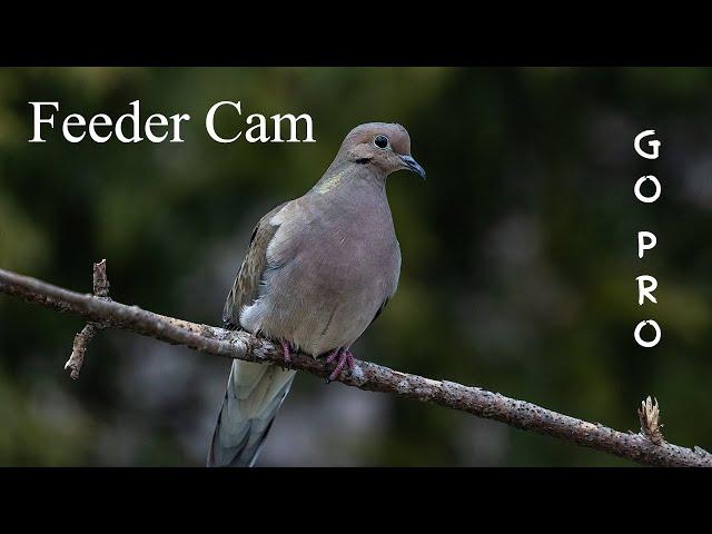
<svg viewBox="0 0 712 534">
<path fill-rule="evenodd" d="M 274 365 L 233 362 L 208 467 L 253 466 L 295 374 Z"/>
</svg>

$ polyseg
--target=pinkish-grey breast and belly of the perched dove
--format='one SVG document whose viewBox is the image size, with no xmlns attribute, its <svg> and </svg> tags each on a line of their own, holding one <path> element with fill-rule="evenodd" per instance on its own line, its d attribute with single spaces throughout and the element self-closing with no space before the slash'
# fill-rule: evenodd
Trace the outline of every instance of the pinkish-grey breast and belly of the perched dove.
<svg viewBox="0 0 712 534">
<path fill-rule="evenodd" d="M 350 345 L 398 283 L 390 212 L 347 206 L 285 220 L 275 235 L 268 290 L 255 307 L 260 329 L 315 355 Z"/>
</svg>

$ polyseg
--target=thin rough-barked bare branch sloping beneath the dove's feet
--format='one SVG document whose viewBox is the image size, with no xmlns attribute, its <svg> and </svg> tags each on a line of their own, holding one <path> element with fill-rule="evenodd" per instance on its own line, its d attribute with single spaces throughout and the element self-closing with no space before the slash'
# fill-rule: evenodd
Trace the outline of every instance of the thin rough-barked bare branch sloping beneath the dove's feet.
<svg viewBox="0 0 712 534">
<path fill-rule="evenodd" d="M 106 287 L 108 288 L 108 284 Z M 59 312 L 79 315 L 89 320 L 89 325 L 130 330 L 215 356 L 284 365 L 280 347 L 267 339 L 255 337 L 246 332 L 231 332 L 189 323 L 154 314 L 138 306 L 116 303 L 107 298 L 108 294 L 101 295 L 96 284 L 95 295 L 82 295 L 0 269 L 0 293 Z M 86 343 L 81 343 L 86 352 Z M 77 342 L 75 342 L 75 352 L 76 345 Z M 83 353 L 80 359 L 82 358 Z M 71 368 L 71 365 L 69 367 Z M 329 374 L 329 369 L 320 360 L 304 354 L 293 355 L 291 367 L 320 377 Z M 79 368 L 76 370 L 78 373 Z M 498 421 L 515 428 L 552 436 L 641 464 L 712 467 L 712 455 L 700 447 L 681 447 L 662 438 L 660 433 L 662 425 L 659 423 L 660 408 L 657 403 L 653 405 L 650 398 L 643 402 L 639 411 L 641 433 L 635 434 L 617 432 L 597 423 L 587 423 L 478 387 L 467 387 L 447 380 L 433 380 L 368 362 L 356 360 L 354 368 L 342 373 L 337 379 L 347 386 L 360 389 L 390 393 L 467 412 L 477 417 Z"/>
</svg>

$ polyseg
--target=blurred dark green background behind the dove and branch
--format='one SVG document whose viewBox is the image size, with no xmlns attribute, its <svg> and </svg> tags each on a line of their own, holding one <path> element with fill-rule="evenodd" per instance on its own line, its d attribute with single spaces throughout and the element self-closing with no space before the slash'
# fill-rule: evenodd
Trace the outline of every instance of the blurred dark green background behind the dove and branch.
<svg viewBox="0 0 712 534">
<path fill-rule="evenodd" d="M 0 69 L 0 267 L 218 325 L 259 217 L 306 191 L 344 135 L 397 121 L 428 179 L 388 196 L 399 290 L 357 357 L 637 429 L 651 394 L 666 437 L 712 446 L 709 393 L 712 71 L 564 68 Z M 60 116 L 188 112 L 184 144 L 31 137 L 28 101 Z M 220 145 L 244 117 L 308 112 L 316 144 Z M 222 115 L 221 131 L 240 127 Z M 661 157 L 633 138 L 655 129 Z M 643 174 L 662 182 L 645 205 Z M 636 255 L 636 233 L 657 247 Z M 637 305 L 635 277 L 657 278 Z M 663 339 L 639 347 L 656 319 Z M 106 332 L 62 372 L 80 319 L 0 296 L 0 465 L 202 465 L 229 362 Z M 259 465 L 631 465 L 441 407 L 300 375 Z"/>
</svg>

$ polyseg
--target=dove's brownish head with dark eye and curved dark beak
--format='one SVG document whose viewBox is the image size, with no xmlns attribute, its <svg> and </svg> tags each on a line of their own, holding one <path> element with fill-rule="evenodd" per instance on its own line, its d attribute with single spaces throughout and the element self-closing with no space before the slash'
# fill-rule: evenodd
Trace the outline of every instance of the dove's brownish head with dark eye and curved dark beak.
<svg viewBox="0 0 712 534">
<path fill-rule="evenodd" d="M 400 125 L 368 122 L 348 132 L 339 155 L 356 165 L 373 166 L 384 178 L 412 170 L 425 179 L 425 169 L 411 156 L 411 136 Z"/>
</svg>

